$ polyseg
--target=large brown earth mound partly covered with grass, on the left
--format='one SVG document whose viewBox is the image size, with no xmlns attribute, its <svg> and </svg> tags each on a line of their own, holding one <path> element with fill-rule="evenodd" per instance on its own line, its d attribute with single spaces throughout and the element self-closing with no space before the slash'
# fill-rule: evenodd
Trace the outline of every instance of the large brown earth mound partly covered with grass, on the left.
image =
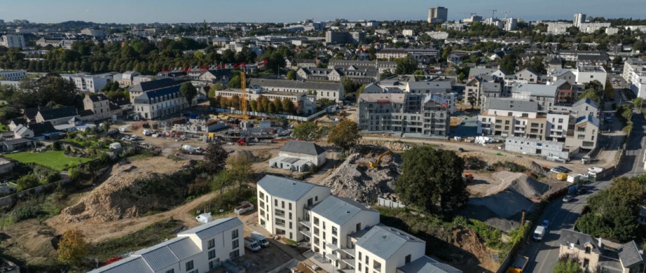
<svg viewBox="0 0 646 273">
<path fill-rule="evenodd" d="M 105 222 L 168 209 L 182 201 L 187 184 L 181 177 L 170 174 L 186 163 L 152 157 L 114 165 L 101 185 L 81 197 L 76 205 L 63 209 L 61 216 L 68 223 Z"/>
</svg>

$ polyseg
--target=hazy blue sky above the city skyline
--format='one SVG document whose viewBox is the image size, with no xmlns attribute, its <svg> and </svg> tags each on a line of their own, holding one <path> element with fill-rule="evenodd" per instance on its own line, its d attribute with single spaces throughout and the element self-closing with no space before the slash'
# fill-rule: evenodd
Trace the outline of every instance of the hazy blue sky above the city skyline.
<svg viewBox="0 0 646 273">
<path fill-rule="evenodd" d="M 645 0 L 21 0 L 0 1 L 0 19 L 37 23 L 294 22 L 306 18 L 327 21 L 424 20 L 430 6 L 448 8 L 449 19 L 475 12 L 508 11 L 525 20 L 572 19 L 574 13 L 604 17 L 646 17 Z M 497 12 L 497 17 L 505 17 Z"/>
</svg>

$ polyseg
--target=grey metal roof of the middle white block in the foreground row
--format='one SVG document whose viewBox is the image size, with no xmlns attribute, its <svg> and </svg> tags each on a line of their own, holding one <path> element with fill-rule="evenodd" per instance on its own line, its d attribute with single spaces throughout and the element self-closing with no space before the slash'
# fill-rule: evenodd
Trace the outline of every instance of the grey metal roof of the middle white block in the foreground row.
<svg viewBox="0 0 646 273">
<path fill-rule="evenodd" d="M 362 210 L 379 214 L 377 210 L 368 208 L 357 201 L 337 196 L 329 196 L 312 208 L 312 212 L 337 225 L 343 225 Z"/>
</svg>

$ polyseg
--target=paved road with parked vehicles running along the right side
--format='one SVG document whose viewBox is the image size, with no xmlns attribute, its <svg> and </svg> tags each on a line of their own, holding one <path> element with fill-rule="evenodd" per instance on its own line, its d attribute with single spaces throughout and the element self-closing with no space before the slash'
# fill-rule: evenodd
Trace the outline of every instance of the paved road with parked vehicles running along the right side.
<svg viewBox="0 0 646 273">
<path fill-rule="evenodd" d="M 641 115 L 637 113 L 632 117 L 634 128 L 626 142 L 625 156 L 621 158 L 619 168 L 615 176 L 637 176 L 644 173 L 643 159 L 646 145 L 646 136 L 644 130 L 646 122 Z M 543 210 L 538 223 L 543 219 L 550 221 L 549 233 L 541 243 L 531 241 L 521 252 L 523 256 L 530 258 L 527 268 L 524 272 L 549 273 L 557 262 L 559 256 L 558 239 L 561 229 L 570 229 L 574 227 L 574 222 L 581 214 L 585 207 L 587 197 L 594 195 L 596 192 L 610 185 L 610 179 L 596 181 L 589 185 L 589 193 L 583 196 L 577 196 L 570 203 L 563 203 L 561 200 L 552 201 Z"/>
</svg>

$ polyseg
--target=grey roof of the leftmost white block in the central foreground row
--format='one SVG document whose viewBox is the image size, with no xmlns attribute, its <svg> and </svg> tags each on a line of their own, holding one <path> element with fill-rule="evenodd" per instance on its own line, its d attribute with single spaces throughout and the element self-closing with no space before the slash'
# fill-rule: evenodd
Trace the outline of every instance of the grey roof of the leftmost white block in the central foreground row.
<svg viewBox="0 0 646 273">
<path fill-rule="evenodd" d="M 263 188 L 270 196 L 298 201 L 300 197 L 307 194 L 312 188 L 324 186 L 314 185 L 296 179 L 267 175 L 258 181 L 258 187 Z"/>
</svg>

